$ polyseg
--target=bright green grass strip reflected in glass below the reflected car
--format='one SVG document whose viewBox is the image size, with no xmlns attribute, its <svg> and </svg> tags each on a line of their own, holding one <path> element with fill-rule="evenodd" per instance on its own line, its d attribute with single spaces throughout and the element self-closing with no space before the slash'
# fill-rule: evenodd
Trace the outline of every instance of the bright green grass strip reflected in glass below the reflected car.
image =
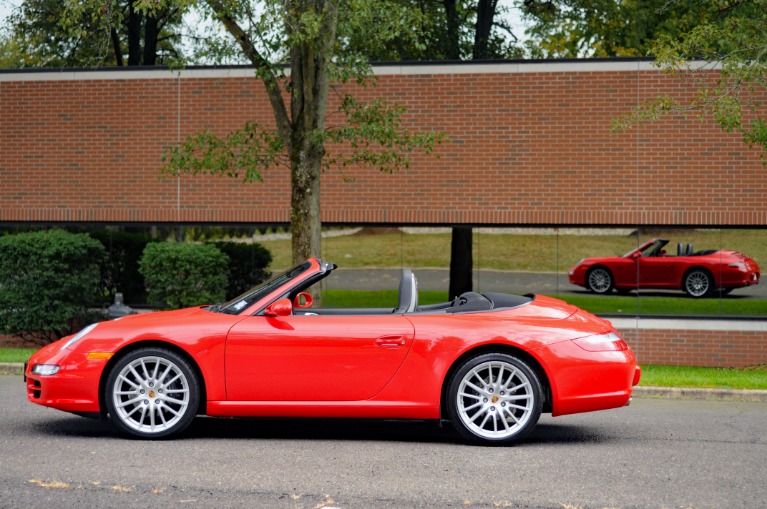
<svg viewBox="0 0 767 509">
<path fill-rule="evenodd" d="M 767 316 L 767 299 L 692 299 L 679 297 L 622 297 L 600 295 L 553 295 L 599 315 L 652 316 Z M 325 307 L 394 309 L 397 290 L 325 290 Z M 420 291 L 420 304 L 447 301 L 447 292 Z"/>
</svg>

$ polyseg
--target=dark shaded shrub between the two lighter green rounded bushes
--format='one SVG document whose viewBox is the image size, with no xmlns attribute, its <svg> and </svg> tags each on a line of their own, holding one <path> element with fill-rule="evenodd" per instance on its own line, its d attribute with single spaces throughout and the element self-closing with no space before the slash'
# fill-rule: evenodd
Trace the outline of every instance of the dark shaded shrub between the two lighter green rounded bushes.
<svg viewBox="0 0 767 509">
<path fill-rule="evenodd" d="M 101 267 L 104 302 L 114 302 L 115 293 L 120 292 L 129 305 L 146 304 L 147 293 L 138 262 L 146 245 L 153 242 L 149 234 L 112 230 L 95 230 L 88 234 L 99 240 L 107 251 Z"/>
</svg>

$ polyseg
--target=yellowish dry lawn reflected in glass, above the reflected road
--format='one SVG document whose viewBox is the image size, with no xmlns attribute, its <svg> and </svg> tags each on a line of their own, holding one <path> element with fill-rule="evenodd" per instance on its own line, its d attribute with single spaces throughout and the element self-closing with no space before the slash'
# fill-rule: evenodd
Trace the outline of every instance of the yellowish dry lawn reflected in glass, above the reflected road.
<svg viewBox="0 0 767 509">
<path fill-rule="evenodd" d="M 366 231 L 374 230 L 373 228 Z M 322 241 L 322 257 L 340 267 L 446 268 L 450 266 L 450 234 L 407 234 L 381 230 L 376 235 L 349 235 Z M 674 230 L 641 235 L 517 235 L 474 231 L 474 266 L 493 270 L 564 272 L 583 258 L 620 256 L 653 237 L 669 239 L 669 254 L 678 242 L 695 251 L 728 249 L 767 266 L 767 230 Z M 291 265 L 290 240 L 260 242 L 272 252 L 272 270 Z"/>
</svg>

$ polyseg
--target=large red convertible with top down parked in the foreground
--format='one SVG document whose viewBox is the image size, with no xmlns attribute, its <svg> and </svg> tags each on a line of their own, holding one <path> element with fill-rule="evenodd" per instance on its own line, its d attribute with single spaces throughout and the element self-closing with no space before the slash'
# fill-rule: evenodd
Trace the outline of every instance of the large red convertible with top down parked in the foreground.
<svg viewBox="0 0 767 509">
<path fill-rule="evenodd" d="M 541 296 L 466 293 L 419 306 L 312 308 L 336 266 L 293 267 L 231 302 L 90 325 L 35 353 L 29 401 L 159 438 L 195 415 L 450 421 L 509 443 L 553 415 L 625 406 L 641 370 L 612 325 Z"/>
</svg>

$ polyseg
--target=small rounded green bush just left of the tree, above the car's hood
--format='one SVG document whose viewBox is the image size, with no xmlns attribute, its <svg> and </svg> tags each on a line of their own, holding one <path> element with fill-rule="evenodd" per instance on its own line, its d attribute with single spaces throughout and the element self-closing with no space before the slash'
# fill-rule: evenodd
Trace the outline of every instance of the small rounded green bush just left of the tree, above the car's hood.
<svg viewBox="0 0 767 509">
<path fill-rule="evenodd" d="M 210 244 L 152 242 L 144 248 L 139 272 L 149 303 L 161 309 L 224 300 L 229 258 Z"/>
</svg>

